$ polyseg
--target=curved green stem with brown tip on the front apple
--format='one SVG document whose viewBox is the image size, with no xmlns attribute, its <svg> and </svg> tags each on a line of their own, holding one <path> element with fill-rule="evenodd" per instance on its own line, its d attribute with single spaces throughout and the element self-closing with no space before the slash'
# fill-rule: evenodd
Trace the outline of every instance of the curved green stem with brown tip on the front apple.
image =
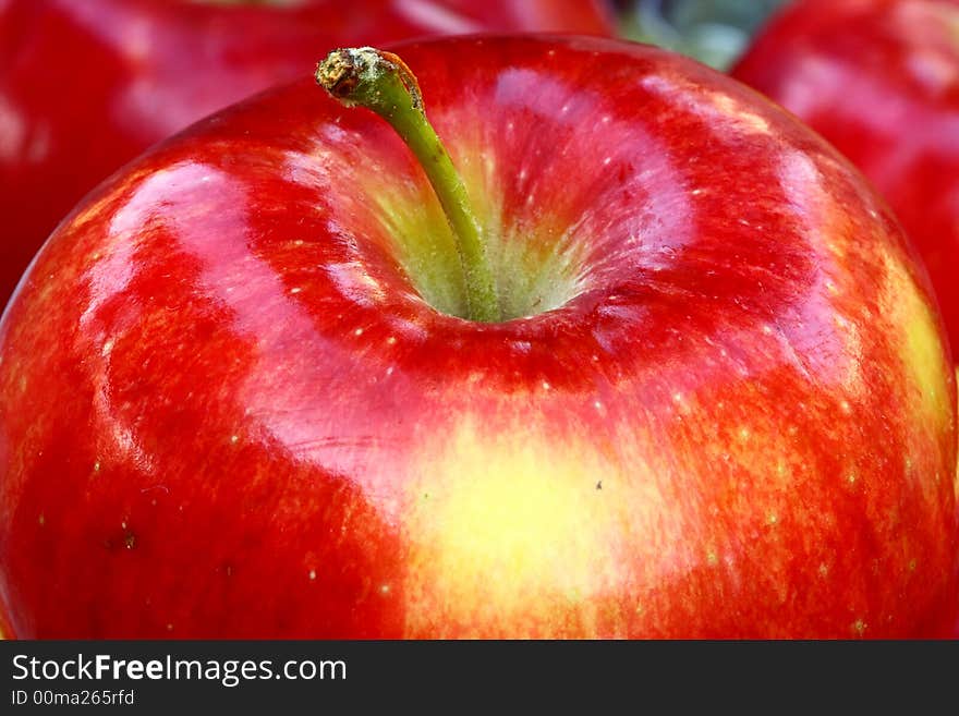
<svg viewBox="0 0 959 716">
<path fill-rule="evenodd" d="M 338 49 L 316 66 L 316 82 L 347 107 L 390 123 L 426 172 L 456 239 L 468 317 L 496 323 L 502 311 L 482 231 L 449 153 L 426 119 L 416 77 L 399 57 L 373 47 Z"/>
</svg>

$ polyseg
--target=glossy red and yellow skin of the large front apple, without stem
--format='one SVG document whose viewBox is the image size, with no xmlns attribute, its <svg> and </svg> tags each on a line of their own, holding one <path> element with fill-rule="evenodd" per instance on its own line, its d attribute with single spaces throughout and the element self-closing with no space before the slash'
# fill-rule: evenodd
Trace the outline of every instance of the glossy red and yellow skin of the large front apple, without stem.
<svg viewBox="0 0 959 716">
<path fill-rule="evenodd" d="M 430 307 L 422 170 L 311 80 L 151 149 L 0 321 L 16 634 L 946 633 L 951 356 L 861 175 L 656 48 L 397 51 L 494 264 L 559 256 L 558 307 Z"/>
</svg>

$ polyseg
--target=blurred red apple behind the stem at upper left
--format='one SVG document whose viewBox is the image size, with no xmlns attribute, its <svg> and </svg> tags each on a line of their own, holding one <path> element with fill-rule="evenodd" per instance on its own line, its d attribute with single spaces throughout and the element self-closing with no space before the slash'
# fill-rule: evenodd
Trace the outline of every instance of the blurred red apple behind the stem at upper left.
<svg viewBox="0 0 959 716">
<path fill-rule="evenodd" d="M 0 1 L 0 306 L 66 213 L 149 145 L 325 48 L 478 31 L 612 25 L 602 0 Z"/>
</svg>

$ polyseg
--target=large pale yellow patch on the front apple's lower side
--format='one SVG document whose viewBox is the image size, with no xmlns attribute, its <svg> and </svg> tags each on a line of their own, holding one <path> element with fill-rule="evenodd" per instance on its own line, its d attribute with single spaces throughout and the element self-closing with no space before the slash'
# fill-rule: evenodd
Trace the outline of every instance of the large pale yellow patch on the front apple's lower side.
<svg viewBox="0 0 959 716">
<path fill-rule="evenodd" d="M 627 475 L 585 436 L 513 428 L 465 417 L 418 454 L 404 523 L 411 636 L 553 638 L 622 621 L 597 614 L 596 597 L 622 593 L 628 543 L 655 532 L 665 500 L 648 466 Z"/>
</svg>

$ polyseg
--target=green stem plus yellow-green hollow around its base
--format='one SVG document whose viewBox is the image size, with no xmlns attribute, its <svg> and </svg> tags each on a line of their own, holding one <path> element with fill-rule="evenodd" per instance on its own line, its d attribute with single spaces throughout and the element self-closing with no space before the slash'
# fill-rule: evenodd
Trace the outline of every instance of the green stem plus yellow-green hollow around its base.
<svg viewBox="0 0 959 716">
<path fill-rule="evenodd" d="M 387 192 L 374 201 L 400 263 L 435 308 L 498 323 L 548 311 L 575 293 L 579 262 L 563 248 L 568 230 L 549 221 L 507 226 L 494 155 L 459 153 L 457 167 L 400 57 L 373 47 L 333 50 L 317 65 L 316 81 L 343 106 L 377 113 L 416 158 L 435 201 L 422 191 L 425 183 L 413 196 L 391 201 L 396 193 Z"/>
</svg>

